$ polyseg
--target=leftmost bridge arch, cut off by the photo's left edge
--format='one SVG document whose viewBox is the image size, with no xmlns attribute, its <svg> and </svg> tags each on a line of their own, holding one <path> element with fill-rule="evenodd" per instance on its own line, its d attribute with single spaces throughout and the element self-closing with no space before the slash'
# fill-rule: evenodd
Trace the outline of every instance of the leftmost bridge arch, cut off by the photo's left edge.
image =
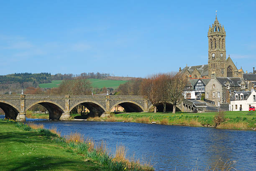
<svg viewBox="0 0 256 171">
<path fill-rule="evenodd" d="M 18 113 L 20 113 L 20 110 L 17 106 L 6 101 L 0 101 L 0 108 L 5 112 L 5 118 L 15 120 L 18 116 Z"/>
</svg>

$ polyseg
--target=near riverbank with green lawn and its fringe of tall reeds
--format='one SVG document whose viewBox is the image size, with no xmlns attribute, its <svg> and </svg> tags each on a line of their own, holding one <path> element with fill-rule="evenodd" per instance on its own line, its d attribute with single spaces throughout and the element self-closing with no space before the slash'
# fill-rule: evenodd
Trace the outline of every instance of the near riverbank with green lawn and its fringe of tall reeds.
<svg viewBox="0 0 256 171">
<path fill-rule="evenodd" d="M 118 146 L 115 156 L 108 153 L 106 144 L 84 141 L 79 133 L 66 138 L 56 128 L 26 125 L 0 120 L 0 165 L 3 170 L 126 170 L 149 169 L 148 164 L 125 157 L 126 150 Z"/>
</svg>

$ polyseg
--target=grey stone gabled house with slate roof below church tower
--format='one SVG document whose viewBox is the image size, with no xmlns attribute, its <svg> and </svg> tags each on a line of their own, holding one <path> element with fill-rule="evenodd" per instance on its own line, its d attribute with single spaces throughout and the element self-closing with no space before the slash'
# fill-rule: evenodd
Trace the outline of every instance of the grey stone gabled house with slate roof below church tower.
<svg viewBox="0 0 256 171">
<path fill-rule="evenodd" d="M 239 77 L 214 77 L 205 86 L 205 99 L 214 101 L 215 106 L 230 103 L 235 91 L 246 91 L 247 83 Z"/>
</svg>

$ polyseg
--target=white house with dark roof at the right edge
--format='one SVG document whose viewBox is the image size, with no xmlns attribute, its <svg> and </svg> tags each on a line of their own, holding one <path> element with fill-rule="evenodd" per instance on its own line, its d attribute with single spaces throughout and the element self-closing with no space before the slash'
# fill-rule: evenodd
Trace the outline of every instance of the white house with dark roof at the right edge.
<svg viewBox="0 0 256 171">
<path fill-rule="evenodd" d="M 256 91 L 235 92 L 230 98 L 230 111 L 249 111 L 249 107 L 256 107 Z"/>
</svg>

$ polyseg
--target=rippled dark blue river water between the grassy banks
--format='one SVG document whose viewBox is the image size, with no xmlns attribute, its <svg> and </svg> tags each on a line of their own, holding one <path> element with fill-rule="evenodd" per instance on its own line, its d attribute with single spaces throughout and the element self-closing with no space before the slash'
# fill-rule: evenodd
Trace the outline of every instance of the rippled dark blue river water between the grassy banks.
<svg viewBox="0 0 256 171">
<path fill-rule="evenodd" d="M 77 131 L 96 143 L 104 140 L 112 151 L 122 143 L 128 156 L 145 158 L 156 170 L 205 170 L 219 158 L 235 161 L 232 166 L 238 170 L 256 170 L 256 131 L 123 122 L 26 122 L 31 121 L 45 128 L 54 126 L 62 136 Z"/>
</svg>

